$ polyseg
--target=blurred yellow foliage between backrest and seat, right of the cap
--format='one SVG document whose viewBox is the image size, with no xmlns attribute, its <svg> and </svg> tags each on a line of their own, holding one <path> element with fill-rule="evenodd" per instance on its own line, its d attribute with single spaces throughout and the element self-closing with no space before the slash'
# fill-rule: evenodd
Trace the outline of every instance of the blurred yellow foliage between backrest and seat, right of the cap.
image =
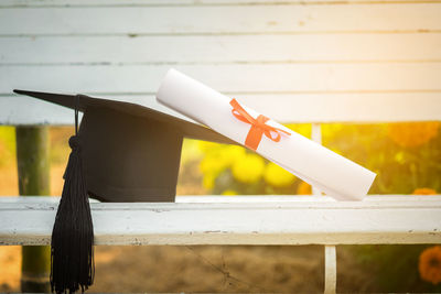
<svg viewBox="0 0 441 294">
<path fill-rule="evenodd" d="M 287 127 L 308 138 L 311 135 L 311 124 Z M 412 194 L 422 187 L 439 192 L 439 129 L 438 122 L 325 123 L 322 141 L 326 148 L 377 173 L 369 194 Z M 254 152 L 244 148 L 240 151 L 237 146 L 207 142 L 201 142 L 200 148 L 203 185 L 213 194 L 299 194 L 302 190 L 302 181 L 290 178 L 263 159 L 252 159 Z"/>
</svg>

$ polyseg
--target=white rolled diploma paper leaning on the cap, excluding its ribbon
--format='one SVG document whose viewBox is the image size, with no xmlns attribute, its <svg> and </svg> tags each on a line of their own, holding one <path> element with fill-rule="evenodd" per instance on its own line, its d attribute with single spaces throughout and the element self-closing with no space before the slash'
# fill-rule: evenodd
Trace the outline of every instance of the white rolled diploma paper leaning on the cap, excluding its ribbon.
<svg viewBox="0 0 441 294">
<path fill-rule="evenodd" d="M 175 69 L 166 73 L 157 99 L 240 144 L 251 128 L 233 116 L 232 98 Z M 254 118 L 259 115 L 243 104 L 240 106 Z M 258 154 L 336 199 L 361 200 L 367 194 L 375 173 L 273 120 L 267 124 L 291 135 L 281 133 L 280 141 L 275 142 L 263 134 L 256 150 Z"/>
</svg>

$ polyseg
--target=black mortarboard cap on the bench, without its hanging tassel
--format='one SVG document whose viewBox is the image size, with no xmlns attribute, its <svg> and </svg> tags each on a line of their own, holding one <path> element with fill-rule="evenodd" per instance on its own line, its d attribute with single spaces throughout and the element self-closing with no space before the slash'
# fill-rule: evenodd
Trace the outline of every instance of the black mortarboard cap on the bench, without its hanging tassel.
<svg viewBox="0 0 441 294">
<path fill-rule="evenodd" d="M 84 112 L 78 137 L 87 189 L 103 202 L 174 202 L 183 138 L 234 143 L 201 124 L 131 102 L 14 92 Z"/>
</svg>

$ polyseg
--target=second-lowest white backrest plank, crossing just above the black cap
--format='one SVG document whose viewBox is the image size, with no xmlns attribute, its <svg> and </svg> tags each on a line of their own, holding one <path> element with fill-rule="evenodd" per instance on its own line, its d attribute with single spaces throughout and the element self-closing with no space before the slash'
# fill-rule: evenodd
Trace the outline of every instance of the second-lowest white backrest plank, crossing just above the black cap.
<svg viewBox="0 0 441 294">
<path fill-rule="evenodd" d="M 157 92 L 170 65 L 0 66 L 0 94 L 13 88 L 69 92 Z M 176 65 L 223 92 L 440 91 L 441 63 Z"/>
</svg>

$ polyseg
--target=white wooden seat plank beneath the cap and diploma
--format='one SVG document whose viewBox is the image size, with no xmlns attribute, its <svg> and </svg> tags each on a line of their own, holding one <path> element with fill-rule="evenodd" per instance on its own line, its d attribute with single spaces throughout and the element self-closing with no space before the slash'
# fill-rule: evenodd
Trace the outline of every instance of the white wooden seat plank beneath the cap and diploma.
<svg viewBox="0 0 441 294">
<path fill-rule="evenodd" d="M 201 197 L 201 196 L 200 196 Z M 262 196 L 265 197 L 265 196 Z M 270 198 L 271 196 L 266 196 Z M 226 202 L 229 198 L 225 197 Z M 441 242 L 441 196 L 364 202 L 93 203 L 96 244 L 358 244 Z M 324 200 L 321 200 L 324 199 Z M 0 198 L 1 200 L 1 198 Z M 56 203 L 3 202 L 1 244 L 49 244 Z"/>
</svg>

